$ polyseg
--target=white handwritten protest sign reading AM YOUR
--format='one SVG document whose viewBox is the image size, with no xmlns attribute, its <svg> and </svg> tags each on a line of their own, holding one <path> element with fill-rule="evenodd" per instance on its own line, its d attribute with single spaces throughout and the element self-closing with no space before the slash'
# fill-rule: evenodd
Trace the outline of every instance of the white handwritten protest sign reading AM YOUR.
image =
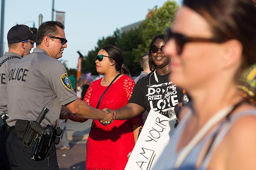
<svg viewBox="0 0 256 170">
<path fill-rule="evenodd" d="M 150 110 L 125 170 L 150 170 L 173 133 L 175 121 Z M 170 133 L 170 129 L 171 133 Z"/>
</svg>

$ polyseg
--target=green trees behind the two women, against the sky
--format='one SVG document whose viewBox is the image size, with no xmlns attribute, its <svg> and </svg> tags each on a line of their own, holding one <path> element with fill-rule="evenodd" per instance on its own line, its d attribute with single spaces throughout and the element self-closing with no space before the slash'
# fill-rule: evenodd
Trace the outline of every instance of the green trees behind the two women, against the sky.
<svg viewBox="0 0 256 170">
<path fill-rule="evenodd" d="M 126 65 L 133 76 L 139 75 L 140 57 L 148 52 L 149 44 L 157 34 L 164 34 L 167 27 L 171 27 L 174 14 L 178 8 L 175 1 L 167 1 L 164 5 L 151 13 L 139 28 L 132 29 L 121 33 L 116 29 L 113 35 L 102 37 L 98 40 L 94 50 L 88 52 L 82 60 L 82 70 L 90 71 L 93 75 L 97 75 L 95 69 L 95 56 L 98 51 L 106 45 L 115 45 L 120 48 L 124 56 L 124 65 Z"/>
</svg>

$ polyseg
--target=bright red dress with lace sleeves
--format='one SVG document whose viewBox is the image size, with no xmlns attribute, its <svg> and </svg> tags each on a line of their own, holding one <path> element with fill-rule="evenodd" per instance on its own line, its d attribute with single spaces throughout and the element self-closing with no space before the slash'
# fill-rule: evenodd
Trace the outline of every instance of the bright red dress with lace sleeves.
<svg viewBox="0 0 256 170">
<path fill-rule="evenodd" d="M 106 90 L 101 85 L 101 79 L 93 82 L 83 99 L 95 107 Z M 127 104 L 132 95 L 134 80 L 122 75 L 114 82 L 100 101 L 99 109 L 117 109 Z M 103 126 L 99 120 L 94 120 L 90 130 L 86 149 L 87 170 L 122 170 L 128 161 L 127 155 L 134 147 L 133 124 L 142 125 L 142 115 L 130 120 L 115 120 L 108 126 Z"/>
</svg>

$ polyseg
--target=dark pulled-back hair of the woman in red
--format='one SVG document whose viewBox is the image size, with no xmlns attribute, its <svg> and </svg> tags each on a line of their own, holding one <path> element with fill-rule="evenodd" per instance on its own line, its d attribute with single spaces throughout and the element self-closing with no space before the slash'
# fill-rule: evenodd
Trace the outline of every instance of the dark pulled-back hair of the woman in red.
<svg viewBox="0 0 256 170">
<path fill-rule="evenodd" d="M 113 62 L 113 60 L 116 62 L 116 71 L 119 71 L 121 74 L 130 75 L 130 70 L 123 64 L 123 53 L 119 48 L 114 45 L 108 45 L 102 49 L 108 53 L 109 57 L 113 57 L 108 59 L 110 62 Z"/>
</svg>

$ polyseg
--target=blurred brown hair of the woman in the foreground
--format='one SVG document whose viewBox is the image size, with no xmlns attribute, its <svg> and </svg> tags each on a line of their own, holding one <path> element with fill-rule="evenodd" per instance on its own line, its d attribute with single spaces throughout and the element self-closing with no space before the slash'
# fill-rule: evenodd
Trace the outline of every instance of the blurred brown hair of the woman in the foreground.
<svg viewBox="0 0 256 170">
<path fill-rule="evenodd" d="M 256 7 L 252 0 L 184 0 L 207 20 L 213 35 L 243 45 L 240 72 L 256 63 Z"/>
</svg>

